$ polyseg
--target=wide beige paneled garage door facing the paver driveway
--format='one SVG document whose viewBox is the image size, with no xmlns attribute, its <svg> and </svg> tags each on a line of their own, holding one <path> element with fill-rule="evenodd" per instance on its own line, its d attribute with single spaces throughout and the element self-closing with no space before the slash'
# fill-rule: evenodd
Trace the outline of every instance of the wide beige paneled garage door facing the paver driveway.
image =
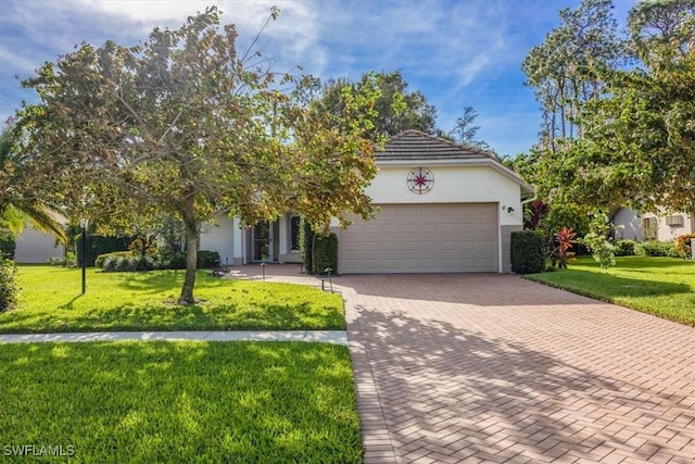
<svg viewBox="0 0 695 464">
<path fill-rule="evenodd" d="M 497 272 L 496 203 L 381 205 L 341 231 L 344 274 Z"/>
</svg>

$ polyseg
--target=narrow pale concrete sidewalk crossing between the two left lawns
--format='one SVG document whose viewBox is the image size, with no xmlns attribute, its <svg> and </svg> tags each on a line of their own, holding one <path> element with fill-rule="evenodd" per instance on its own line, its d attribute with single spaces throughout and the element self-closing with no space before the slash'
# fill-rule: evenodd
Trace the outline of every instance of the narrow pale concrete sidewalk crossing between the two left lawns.
<svg viewBox="0 0 695 464">
<path fill-rule="evenodd" d="M 320 341 L 348 344 L 344 330 L 177 330 L 177 331 L 97 331 L 64 334 L 0 335 L 0 343 L 35 341 Z"/>
</svg>

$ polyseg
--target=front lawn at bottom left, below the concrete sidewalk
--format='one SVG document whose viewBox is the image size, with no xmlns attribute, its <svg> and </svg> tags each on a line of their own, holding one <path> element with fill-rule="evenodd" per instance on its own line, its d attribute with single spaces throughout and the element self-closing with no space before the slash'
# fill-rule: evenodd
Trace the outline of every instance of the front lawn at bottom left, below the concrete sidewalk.
<svg viewBox="0 0 695 464">
<path fill-rule="evenodd" d="M 13 452 L 8 447 L 34 446 L 35 453 L 62 447 L 75 463 L 362 460 L 345 347 L 90 342 L 0 348 L 3 453 Z"/>
</svg>

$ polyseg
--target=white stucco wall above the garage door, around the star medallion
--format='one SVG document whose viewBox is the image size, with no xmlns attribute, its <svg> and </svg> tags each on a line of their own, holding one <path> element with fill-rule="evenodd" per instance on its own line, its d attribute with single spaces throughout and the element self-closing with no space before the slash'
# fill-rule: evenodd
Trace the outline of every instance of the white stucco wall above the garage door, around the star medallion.
<svg viewBox="0 0 695 464">
<path fill-rule="evenodd" d="M 522 225 L 519 184 L 488 166 L 424 165 L 434 178 L 430 191 L 417 195 L 406 179 L 414 166 L 380 166 L 366 192 L 375 204 L 389 203 L 488 203 L 500 205 L 500 225 Z M 502 211 L 504 206 L 504 212 Z M 507 209 L 511 208 L 511 213 Z"/>
</svg>

